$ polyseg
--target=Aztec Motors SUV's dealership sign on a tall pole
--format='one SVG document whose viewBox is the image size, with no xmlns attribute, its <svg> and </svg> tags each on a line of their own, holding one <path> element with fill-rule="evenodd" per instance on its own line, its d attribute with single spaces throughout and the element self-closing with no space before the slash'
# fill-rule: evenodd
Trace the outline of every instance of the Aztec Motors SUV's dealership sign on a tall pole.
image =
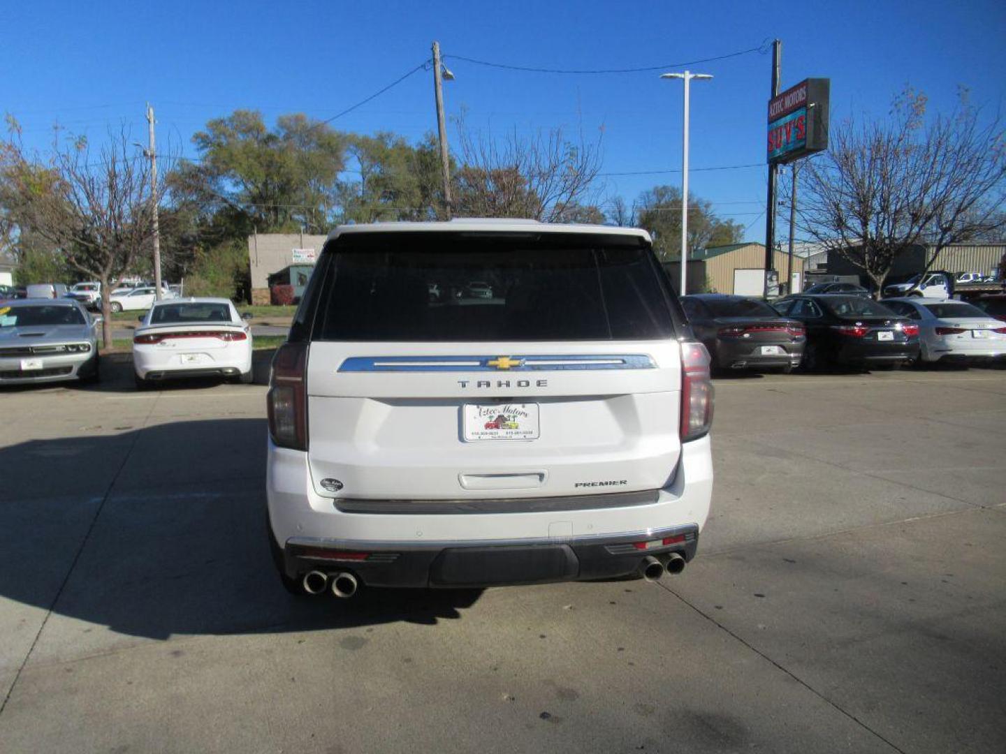
<svg viewBox="0 0 1006 754">
<path fill-rule="evenodd" d="M 769 163 L 828 149 L 830 78 L 805 78 L 769 101 Z"/>
</svg>

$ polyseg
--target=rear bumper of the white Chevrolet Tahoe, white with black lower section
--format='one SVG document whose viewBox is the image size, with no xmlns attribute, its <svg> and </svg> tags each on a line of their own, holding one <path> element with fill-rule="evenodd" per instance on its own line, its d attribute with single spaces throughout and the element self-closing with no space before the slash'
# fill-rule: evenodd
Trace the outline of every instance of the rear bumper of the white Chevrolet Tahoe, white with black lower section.
<svg viewBox="0 0 1006 754">
<path fill-rule="evenodd" d="M 277 565 L 290 578 L 315 568 L 349 570 L 371 586 L 426 587 L 611 578 L 636 572 L 650 554 L 691 559 L 712 497 L 710 448 L 708 436 L 684 443 L 673 480 L 649 505 L 423 515 L 342 512 L 315 493 L 306 453 L 270 442 L 267 498 Z M 651 547 L 632 547 L 639 542 Z M 331 552 L 326 559 L 305 548 Z M 351 557 L 329 557 L 345 553 Z M 358 559 L 361 553 L 366 559 Z"/>
</svg>

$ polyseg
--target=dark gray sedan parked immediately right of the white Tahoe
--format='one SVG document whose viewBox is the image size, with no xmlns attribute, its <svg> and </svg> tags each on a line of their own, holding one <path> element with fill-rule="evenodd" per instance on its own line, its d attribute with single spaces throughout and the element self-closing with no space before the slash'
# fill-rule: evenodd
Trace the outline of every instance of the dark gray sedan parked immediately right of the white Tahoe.
<svg viewBox="0 0 1006 754">
<path fill-rule="evenodd" d="M 804 327 L 758 299 L 723 294 L 681 298 L 695 337 L 712 356 L 713 369 L 781 369 L 800 364 Z"/>
</svg>

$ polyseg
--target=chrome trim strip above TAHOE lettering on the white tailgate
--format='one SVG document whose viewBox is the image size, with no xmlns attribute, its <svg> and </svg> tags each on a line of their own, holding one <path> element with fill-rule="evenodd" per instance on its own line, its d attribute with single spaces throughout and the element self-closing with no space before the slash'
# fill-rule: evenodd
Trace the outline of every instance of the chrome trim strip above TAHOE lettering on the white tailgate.
<svg viewBox="0 0 1006 754">
<path fill-rule="evenodd" d="M 656 369 L 647 354 L 509 356 L 518 364 L 490 366 L 499 356 L 351 356 L 340 372 L 534 372 L 542 370 Z"/>
</svg>

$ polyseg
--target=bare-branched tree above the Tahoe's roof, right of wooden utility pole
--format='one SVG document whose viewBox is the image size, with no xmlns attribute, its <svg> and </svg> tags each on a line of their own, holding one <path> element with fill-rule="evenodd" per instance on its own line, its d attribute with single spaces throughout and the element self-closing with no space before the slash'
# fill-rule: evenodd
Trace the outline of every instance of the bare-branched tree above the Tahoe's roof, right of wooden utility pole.
<svg viewBox="0 0 1006 754">
<path fill-rule="evenodd" d="M 601 170 L 601 140 L 582 133 L 569 141 L 561 128 L 523 138 L 473 134 L 459 119 L 462 167 L 456 174 L 458 214 L 530 217 L 561 222 L 574 206 L 590 206 Z M 596 216 L 593 215 L 593 216 Z"/>
</svg>

